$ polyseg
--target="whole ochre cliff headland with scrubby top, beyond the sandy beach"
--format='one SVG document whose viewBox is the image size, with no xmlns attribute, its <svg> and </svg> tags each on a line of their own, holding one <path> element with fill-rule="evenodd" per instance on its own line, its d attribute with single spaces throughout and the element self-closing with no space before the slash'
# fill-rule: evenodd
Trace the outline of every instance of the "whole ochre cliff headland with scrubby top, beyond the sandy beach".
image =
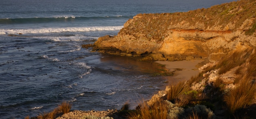
<svg viewBox="0 0 256 119">
<path fill-rule="evenodd" d="M 117 36 L 104 36 L 94 50 L 178 61 L 218 61 L 235 50 L 256 46 L 256 1 L 240 0 L 185 13 L 138 14 Z"/>
</svg>

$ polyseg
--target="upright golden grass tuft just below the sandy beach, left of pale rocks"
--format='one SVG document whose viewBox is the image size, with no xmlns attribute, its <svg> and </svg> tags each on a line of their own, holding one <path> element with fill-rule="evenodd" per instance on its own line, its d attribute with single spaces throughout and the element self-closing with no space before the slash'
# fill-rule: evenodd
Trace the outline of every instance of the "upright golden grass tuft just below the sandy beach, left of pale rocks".
<svg viewBox="0 0 256 119">
<path fill-rule="evenodd" d="M 171 85 L 170 90 L 167 92 L 167 100 L 170 100 L 171 102 L 180 100 L 179 96 L 183 95 L 189 90 L 190 88 L 185 84 L 185 82 L 178 82 L 177 84 Z"/>
</svg>

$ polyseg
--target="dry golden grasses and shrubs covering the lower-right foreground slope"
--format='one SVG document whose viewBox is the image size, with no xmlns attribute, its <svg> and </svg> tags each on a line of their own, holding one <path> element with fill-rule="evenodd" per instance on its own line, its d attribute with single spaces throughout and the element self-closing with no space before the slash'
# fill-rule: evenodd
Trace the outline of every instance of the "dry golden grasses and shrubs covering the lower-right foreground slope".
<svg viewBox="0 0 256 119">
<path fill-rule="evenodd" d="M 204 95 L 202 94 L 204 91 L 192 90 L 190 88 L 191 85 L 195 85 L 201 80 L 207 80 L 206 78 L 208 78 L 209 75 L 204 75 L 203 77 L 202 74 L 216 68 L 219 69 L 218 71 L 222 71 L 223 66 L 220 64 L 228 67 L 228 70 L 226 69 L 226 71 L 223 72 L 227 72 L 236 67 L 234 72 L 237 72 L 236 76 L 238 76 L 239 80 L 234 83 L 234 88 L 225 89 L 225 86 L 230 83 L 223 82 L 221 77 L 217 77 L 214 82 L 204 87 L 204 91 L 209 91 L 208 95 L 200 96 Z M 217 65 L 207 67 L 201 74 L 192 77 L 187 82 L 179 82 L 171 85 L 170 90 L 167 92 L 166 100 L 159 101 L 151 106 L 144 104 L 143 108 L 136 113 L 132 113 L 129 119 L 159 119 L 153 117 L 153 115 L 162 115 L 161 119 L 255 118 L 254 113 L 250 113 L 248 109 L 254 104 L 253 101 L 256 97 L 255 67 L 255 49 L 234 52 L 234 54 L 223 58 Z M 217 74 L 221 76 L 225 74 L 223 72 L 217 72 Z M 165 117 L 166 109 L 163 107 L 168 110 L 167 117 Z M 214 114 L 216 110 L 226 111 L 222 113 L 222 117 L 218 117 L 220 115 Z"/>
</svg>

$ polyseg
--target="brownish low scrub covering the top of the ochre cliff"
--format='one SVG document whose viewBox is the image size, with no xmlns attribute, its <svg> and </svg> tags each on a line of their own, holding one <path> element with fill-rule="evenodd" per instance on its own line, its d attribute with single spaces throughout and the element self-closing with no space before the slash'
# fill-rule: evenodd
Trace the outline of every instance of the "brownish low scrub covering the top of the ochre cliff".
<svg viewBox="0 0 256 119">
<path fill-rule="evenodd" d="M 256 30 L 256 1 L 240 0 L 188 12 L 138 14 L 130 19 L 119 35 L 163 40 L 170 29 L 245 31 L 253 35 Z M 126 27 L 128 26 L 128 27 Z"/>
</svg>

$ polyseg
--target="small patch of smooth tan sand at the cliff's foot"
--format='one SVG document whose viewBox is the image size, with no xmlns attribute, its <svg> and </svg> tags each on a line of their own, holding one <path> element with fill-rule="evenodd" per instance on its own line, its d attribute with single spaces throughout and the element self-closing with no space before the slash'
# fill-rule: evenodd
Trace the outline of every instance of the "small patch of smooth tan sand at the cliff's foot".
<svg viewBox="0 0 256 119">
<path fill-rule="evenodd" d="M 169 71 L 175 71 L 173 76 L 166 76 L 165 80 L 169 83 L 177 83 L 180 81 L 189 80 L 191 76 L 195 76 L 199 73 L 198 63 L 204 60 L 193 60 L 193 61 L 156 61 L 156 63 L 165 65 Z"/>
</svg>

